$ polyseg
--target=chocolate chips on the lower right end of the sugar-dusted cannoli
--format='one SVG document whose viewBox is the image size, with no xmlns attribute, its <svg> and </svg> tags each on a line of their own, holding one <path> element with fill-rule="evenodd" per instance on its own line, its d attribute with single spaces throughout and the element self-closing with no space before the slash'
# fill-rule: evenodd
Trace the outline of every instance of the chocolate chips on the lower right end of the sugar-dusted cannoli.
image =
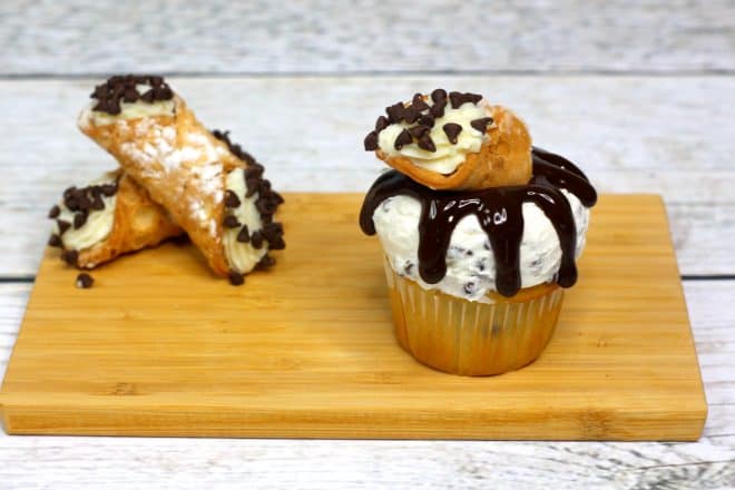
<svg viewBox="0 0 735 490">
<path fill-rule="evenodd" d="M 245 186 L 247 188 L 245 197 L 251 197 L 257 193 L 255 199 L 255 208 L 261 214 L 263 228 L 251 232 L 247 225 L 239 223 L 237 217 L 229 212 L 223 218 L 223 226 L 226 228 L 239 228 L 237 233 L 237 242 L 249 243 L 253 248 L 259 249 L 263 247 L 263 242 L 268 243 L 268 248 L 272 251 L 281 251 L 286 247 L 283 239 L 283 225 L 273 220 L 277 207 L 283 203 L 283 197 L 271 188 L 271 182 L 263 178 L 265 167 L 258 164 L 255 158 L 247 151 L 243 150 L 239 145 L 229 140 L 229 131 L 212 131 L 215 138 L 227 145 L 227 148 L 241 160 L 247 164 L 245 168 Z M 242 205 L 239 197 L 232 190 L 225 193 L 225 208 L 235 209 Z M 257 263 L 255 268 L 263 270 L 272 267 L 275 264 L 275 258 L 265 254 Z M 229 273 L 229 282 L 234 285 L 239 285 L 245 282 L 243 274 L 232 271 Z"/>
</svg>

